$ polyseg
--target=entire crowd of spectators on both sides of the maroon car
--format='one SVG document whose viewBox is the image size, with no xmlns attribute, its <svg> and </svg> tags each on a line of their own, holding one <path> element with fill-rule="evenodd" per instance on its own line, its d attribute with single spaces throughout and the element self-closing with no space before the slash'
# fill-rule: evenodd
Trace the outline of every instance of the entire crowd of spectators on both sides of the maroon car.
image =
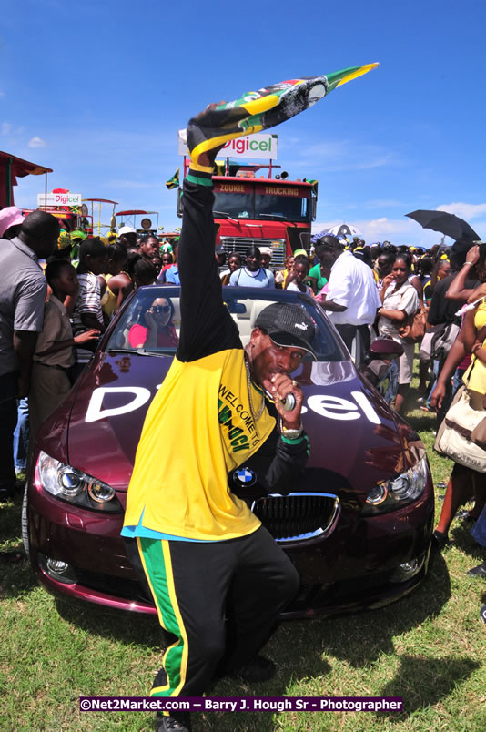
<svg viewBox="0 0 486 732">
<path fill-rule="evenodd" d="M 75 242 L 67 229 L 66 222 L 44 211 L 25 219 L 15 207 L 0 211 L 4 500 L 15 493 L 17 476 L 25 473 L 28 441 L 35 440 L 40 424 L 63 401 L 129 293 L 141 285 L 181 281 L 177 241 L 169 245 L 153 233 L 140 236 L 124 227 L 117 235 Z M 391 394 L 397 412 L 405 411 L 415 360 L 420 408 L 437 411 L 439 432 L 461 390 L 471 409 L 486 409 L 486 245 L 460 239 L 451 248 L 436 245 L 425 250 L 390 242 L 367 246 L 362 239 L 323 234 L 314 238 L 309 251 L 298 249 L 289 255 L 283 269 L 272 269 L 273 251 L 268 247 L 252 245 L 245 256 L 217 248 L 214 256 L 224 285 L 295 290 L 317 300 L 358 365 L 371 341 L 398 342 L 402 354 Z M 196 279 L 199 274 L 194 273 Z M 425 313 L 426 328 L 416 347 L 403 326 L 420 312 Z M 183 349 L 172 315 L 170 300 L 153 300 L 145 320 L 131 328 L 130 344 Z M 300 442 L 301 427 L 289 423 L 292 432 L 299 432 Z M 440 549 L 449 543 L 452 519 L 470 500 L 473 508 L 462 518 L 475 523 L 473 535 L 486 546 L 486 481 L 481 474 L 454 464 L 434 532 Z M 486 578 L 486 562 L 470 574 Z"/>
</svg>

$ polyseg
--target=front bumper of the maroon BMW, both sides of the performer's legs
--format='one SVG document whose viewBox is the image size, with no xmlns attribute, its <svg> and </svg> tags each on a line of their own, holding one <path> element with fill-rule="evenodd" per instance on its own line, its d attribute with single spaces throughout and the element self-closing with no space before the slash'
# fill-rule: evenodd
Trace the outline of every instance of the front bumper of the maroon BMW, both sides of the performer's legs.
<svg viewBox="0 0 486 732">
<path fill-rule="evenodd" d="M 122 522 L 122 514 L 79 509 L 32 484 L 29 544 L 40 584 L 66 601 L 155 615 L 127 559 Z M 283 544 L 301 580 L 283 617 L 365 610 L 408 595 L 427 572 L 432 524 L 431 485 L 420 501 L 393 513 L 357 520 L 341 507 L 330 534 Z M 53 560 L 67 571 L 53 570 Z"/>
</svg>

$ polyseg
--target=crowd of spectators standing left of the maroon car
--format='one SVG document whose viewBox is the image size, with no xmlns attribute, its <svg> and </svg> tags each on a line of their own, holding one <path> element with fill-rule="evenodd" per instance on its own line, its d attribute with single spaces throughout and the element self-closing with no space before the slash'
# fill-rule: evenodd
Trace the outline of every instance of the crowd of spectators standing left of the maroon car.
<svg viewBox="0 0 486 732">
<path fill-rule="evenodd" d="M 151 234 L 124 227 L 87 237 L 40 210 L 24 218 L 16 207 L 2 209 L 0 237 L 5 500 L 20 487 L 39 425 L 64 400 L 130 292 L 156 282 L 162 260 Z"/>
</svg>

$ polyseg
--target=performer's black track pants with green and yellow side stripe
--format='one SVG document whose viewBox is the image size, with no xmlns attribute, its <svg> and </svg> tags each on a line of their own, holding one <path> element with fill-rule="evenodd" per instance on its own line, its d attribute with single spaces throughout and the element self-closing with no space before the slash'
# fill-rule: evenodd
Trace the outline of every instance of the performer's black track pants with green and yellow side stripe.
<svg viewBox="0 0 486 732">
<path fill-rule="evenodd" d="M 152 696 L 201 696 L 215 676 L 245 665 L 299 587 L 297 571 L 263 526 L 223 542 L 140 537 L 137 549 L 170 638 Z"/>
</svg>

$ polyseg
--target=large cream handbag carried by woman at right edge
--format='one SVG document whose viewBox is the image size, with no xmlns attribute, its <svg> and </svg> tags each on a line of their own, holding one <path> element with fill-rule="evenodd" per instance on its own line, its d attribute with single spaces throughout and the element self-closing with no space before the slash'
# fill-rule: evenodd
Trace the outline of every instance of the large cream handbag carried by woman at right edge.
<svg viewBox="0 0 486 732">
<path fill-rule="evenodd" d="M 434 450 L 477 473 L 486 473 L 486 413 L 472 409 L 465 386 L 456 393 L 437 432 Z"/>
</svg>

